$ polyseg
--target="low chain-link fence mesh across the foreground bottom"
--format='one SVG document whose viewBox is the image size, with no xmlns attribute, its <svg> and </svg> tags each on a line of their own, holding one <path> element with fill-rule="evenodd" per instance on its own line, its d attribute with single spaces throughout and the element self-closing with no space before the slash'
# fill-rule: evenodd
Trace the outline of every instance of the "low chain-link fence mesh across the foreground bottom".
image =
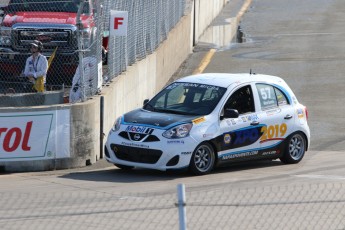
<svg viewBox="0 0 345 230">
<path fill-rule="evenodd" d="M 186 229 L 345 229 L 345 184 L 188 191 Z M 1 229 L 179 229 L 177 194 L 0 193 Z M 180 228 L 184 229 L 184 228 Z"/>
</svg>

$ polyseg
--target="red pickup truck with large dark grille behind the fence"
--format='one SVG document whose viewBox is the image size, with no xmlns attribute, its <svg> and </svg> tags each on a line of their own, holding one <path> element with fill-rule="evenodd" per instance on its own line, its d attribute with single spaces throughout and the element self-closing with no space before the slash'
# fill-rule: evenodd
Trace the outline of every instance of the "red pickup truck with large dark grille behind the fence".
<svg viewBox="0 0 345 230">
<path fill-rule="evenodd" d="M 47 58 L 57 47 L 47 84 L 70 85 L 79 63 L 78 31 L 83 49 L 88 49 L 96 38 L 94 1 L 97 0 L 9 0 L 8 4 L 0 4 L 0 78 L 19 76 L 30 55 L 29 44 L 39 40 Z M 80 5 L 83 7 L 79 10 Z M 105 37 L 103 62 L 107 43 Z"/>
</svg>

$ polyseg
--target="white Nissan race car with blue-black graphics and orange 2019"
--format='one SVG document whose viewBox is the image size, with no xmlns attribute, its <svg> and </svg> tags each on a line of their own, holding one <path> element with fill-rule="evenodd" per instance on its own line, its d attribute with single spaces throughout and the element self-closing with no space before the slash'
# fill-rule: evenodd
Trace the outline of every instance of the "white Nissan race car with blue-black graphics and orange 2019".
<svg viewBox="0 0 345 230">
<path fill-rule="evenodd" d="M 279 77 L 192 75 L 119 117 L 105 155 L 121 169 L 189 168 L 199 175 L 230 162 L 293 164 L 310 144 L 307 119 L 306 107 Z"/>
</svg>

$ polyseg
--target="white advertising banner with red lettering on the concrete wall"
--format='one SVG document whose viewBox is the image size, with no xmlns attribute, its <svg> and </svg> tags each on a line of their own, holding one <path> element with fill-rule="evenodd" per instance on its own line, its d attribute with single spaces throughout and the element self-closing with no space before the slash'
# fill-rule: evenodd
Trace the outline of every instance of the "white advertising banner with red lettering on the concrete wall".
<svg viewBox="0 0 345 230">
<path fill-rule="evenodd" d="M 69 110 L 0 114 L 0 161 L 68 157 Z"/>
</svg>

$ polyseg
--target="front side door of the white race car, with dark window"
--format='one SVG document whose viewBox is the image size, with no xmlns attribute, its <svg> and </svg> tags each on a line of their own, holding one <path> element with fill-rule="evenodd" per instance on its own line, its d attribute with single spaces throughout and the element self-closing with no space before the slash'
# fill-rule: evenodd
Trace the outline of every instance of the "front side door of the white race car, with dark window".
<svg viewBox="0 0 345 230">
<path fill-rule="evenodd" d="M 220 161 L 244 160 L 258 154 L 260 127 L 255 107 L 250 84 L 237 87 L 227 99 L 223 109 L 236 109 L 239 117 L 220 121 Z"/>
</svg>

